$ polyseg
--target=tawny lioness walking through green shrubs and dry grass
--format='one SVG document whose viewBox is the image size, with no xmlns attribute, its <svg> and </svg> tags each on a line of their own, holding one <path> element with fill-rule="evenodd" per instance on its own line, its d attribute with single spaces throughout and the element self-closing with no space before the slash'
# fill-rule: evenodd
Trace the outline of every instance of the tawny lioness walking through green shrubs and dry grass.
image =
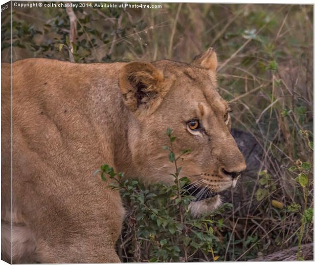
<svg viewBox="0 0 317 265">
<path fill-rule="evenodd" d="M 179 162 L 182 176 L 214 192 L 234 186 L 245 162 L 216 67 L 211 48 L 191 64 L 13 63 L 13 262 L 119 262 L 124 208 L 93 172 L 107 163 L 130 178 L 173 183 L 162 149 L 168 126 L 174 152 L 192 150 Z M 10 261 L 9 65 L 2 71 L 2 254 Z M 212 208 L 220 202 L 208 200 Z"/>
</svg>

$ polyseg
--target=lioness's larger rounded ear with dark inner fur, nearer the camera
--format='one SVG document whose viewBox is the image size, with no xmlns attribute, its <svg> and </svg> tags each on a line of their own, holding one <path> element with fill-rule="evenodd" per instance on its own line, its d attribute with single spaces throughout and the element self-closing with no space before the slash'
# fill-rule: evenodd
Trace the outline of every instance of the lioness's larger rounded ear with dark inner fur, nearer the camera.
<svg viewBox="0 0 317 265">
<path fill-rule="evenodd" d="M 163 74 L 153 64 L 143 61 L 127 63 L 119 78 L 125 105 L 132 112 L 153 112 L 165 94 L 163 81 Z"/>
</svg>

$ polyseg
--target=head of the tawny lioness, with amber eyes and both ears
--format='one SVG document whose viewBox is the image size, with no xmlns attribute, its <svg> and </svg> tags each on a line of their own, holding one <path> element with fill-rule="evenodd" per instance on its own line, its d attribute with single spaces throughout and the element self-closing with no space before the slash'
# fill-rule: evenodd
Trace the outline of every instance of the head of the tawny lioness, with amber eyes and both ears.
<svg viewBox="0 0 317 265">
<path fill-rule="evenodd" d="M 216 91 L 216 53 L 212 48 L 191 64 L 169 60 L 127 63 L 120 76 L 123 101 L 132 113 L 128 139 L 129 175 L 144 182 L 173 183 L 175 165 L 162 147 L 168 145 L 167 127 L 177 139 L 176 156 L 186 148 L 180 176 L 191 180 L 198 199 L 235 186 L 245 161 L 230 134 L 230 107 Z M 212 198 L 219 205 L 219 196 Z"/>
</svg>

